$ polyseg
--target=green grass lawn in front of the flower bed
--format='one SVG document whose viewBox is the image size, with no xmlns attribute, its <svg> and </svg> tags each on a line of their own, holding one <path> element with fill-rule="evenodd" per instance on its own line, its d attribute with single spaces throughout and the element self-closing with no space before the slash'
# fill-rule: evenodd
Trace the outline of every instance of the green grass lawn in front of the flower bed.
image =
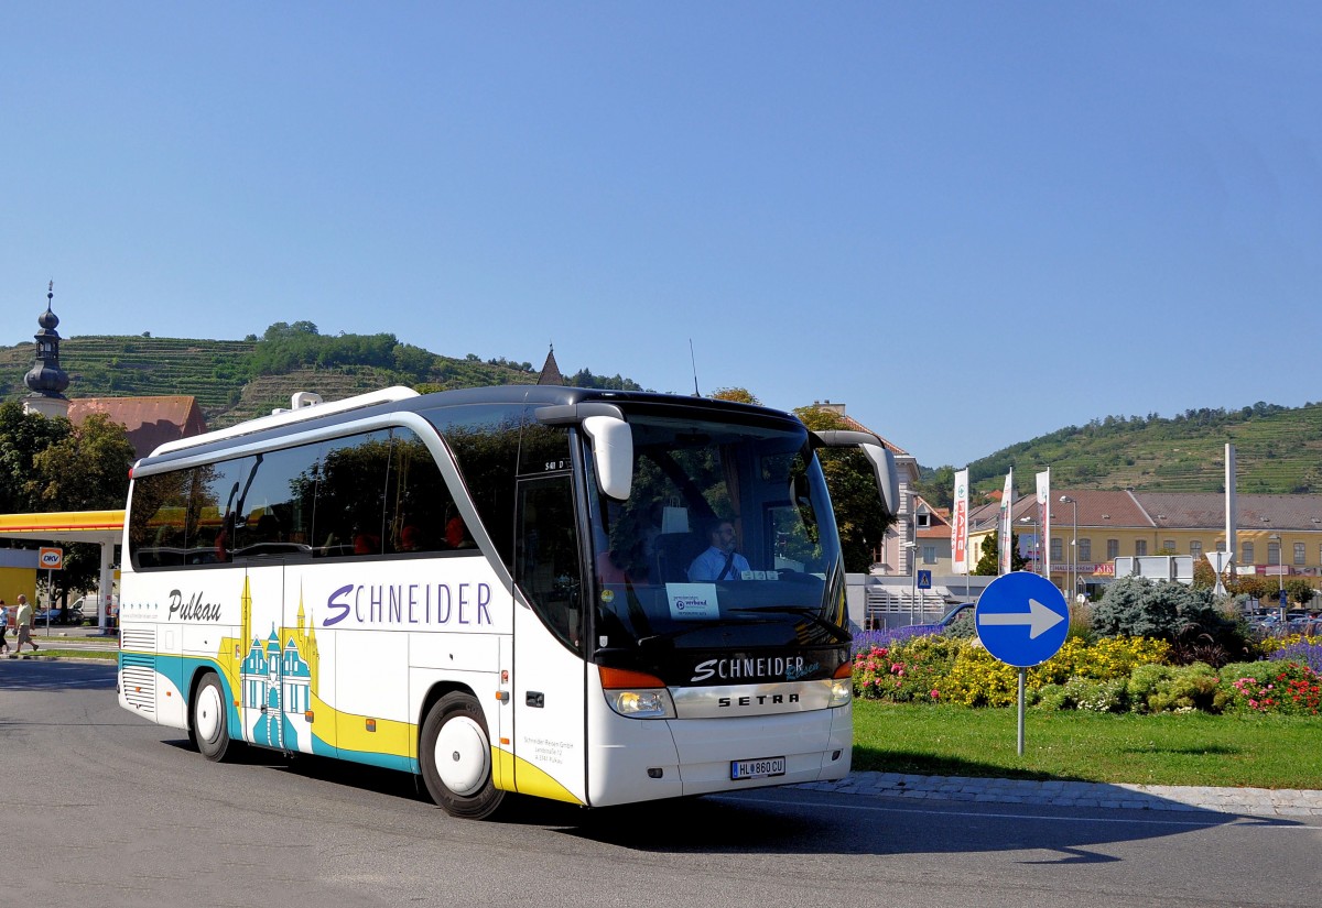
<svg viewBox="0 0 1322 908">
<path fill-rule="evenodd" d="M 1322 718 L 1112 715 L 854 701 L 854 769 L 1322 789 Z"/>
</svg>

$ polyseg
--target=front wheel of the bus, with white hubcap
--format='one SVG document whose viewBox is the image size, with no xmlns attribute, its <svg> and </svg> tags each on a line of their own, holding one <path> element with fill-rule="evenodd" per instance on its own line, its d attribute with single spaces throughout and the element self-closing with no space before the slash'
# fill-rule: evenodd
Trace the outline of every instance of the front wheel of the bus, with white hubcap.
<svg viewBox="0 0 1322 908">
<path fill-rule="evenodd" d="M 505 797 L 492 781 L 490 736 L 472 694 L 451 692 L 427 710 L 418 758 L 427 793 L 452 817 L 489 817 Z"/>
</svg>

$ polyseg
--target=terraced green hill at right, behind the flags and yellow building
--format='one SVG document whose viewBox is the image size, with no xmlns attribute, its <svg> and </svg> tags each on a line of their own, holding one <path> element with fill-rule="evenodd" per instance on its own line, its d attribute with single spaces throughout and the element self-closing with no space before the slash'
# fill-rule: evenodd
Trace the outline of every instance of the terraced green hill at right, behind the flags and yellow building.
<svg viewBox="0 0 1322 908">
<path fill-rule="evenodd" d="M 1173 418 L 1108 416 L 974 461 L 969 482 L 984 491 L 999 488 L 1014 467 L 1015 484 L 1023 490 L 1050 466 L 1051 483 L 1059 488 L 1219 492 L 1227 442 L 1235 446 L 1240 492 L 1322 492 L 1322 404 L 1259 403 L 1239 410 L 1186 410 Z"/>
</svg>

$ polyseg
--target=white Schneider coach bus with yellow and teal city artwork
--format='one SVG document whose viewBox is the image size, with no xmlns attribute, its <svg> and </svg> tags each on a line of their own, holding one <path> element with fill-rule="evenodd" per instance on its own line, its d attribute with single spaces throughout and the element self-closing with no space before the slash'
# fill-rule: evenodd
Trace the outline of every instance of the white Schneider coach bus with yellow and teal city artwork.
<svg viewBox="0 0 1322 908">
<path fill-rule="evenodd" d="M 822 445 L 861 446 L 894 511 L 875 436 L 761 406 L 296 395 L 135 465 L 119 702 L 212 760 L 246 742 L 422 775 L 460 817 L 839 779 Z M 711 528 L 739 540 L 717 578 L 694 565 Z"/>
</svg>

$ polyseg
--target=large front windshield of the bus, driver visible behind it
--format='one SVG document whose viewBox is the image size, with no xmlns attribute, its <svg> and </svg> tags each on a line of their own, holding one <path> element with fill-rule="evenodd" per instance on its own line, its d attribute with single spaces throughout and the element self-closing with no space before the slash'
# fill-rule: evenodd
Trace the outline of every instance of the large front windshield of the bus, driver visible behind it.
<svg viewBox="0 0 1322 908">
<path fill-rule="evenodd" d="M 629 499 L 596 492 L 590 508 L 599 656 L 656 668 L 674 651 L 847 641 L 834 517 L 806 430 L 628 421 Z"/>
</svg>

